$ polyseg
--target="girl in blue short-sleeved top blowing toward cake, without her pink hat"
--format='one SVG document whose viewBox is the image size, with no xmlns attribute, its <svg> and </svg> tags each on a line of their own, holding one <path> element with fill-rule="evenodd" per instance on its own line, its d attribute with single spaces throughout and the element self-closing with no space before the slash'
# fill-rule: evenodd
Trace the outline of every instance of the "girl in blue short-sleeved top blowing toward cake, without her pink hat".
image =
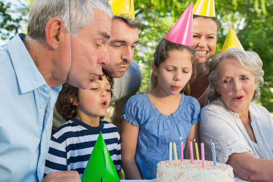
<svg viewBox="0 0 273 182">
<path fill-rule="evenodd" d="M 165 38 L 157 45 L 152 65 L 157 87 L 131 97 L 123 108 L 121 161 L 127 179 L 156 178 L 156 164 L 169 159 L 170 142 L 176 143 L 180 159 L 180 137 L 185 158 L 190 158 L 189 142 L 199 138 L 200 120 L 198 101 L 186 96 L 195 75 L 194 62 L 191 46 Z"/>
</svg>

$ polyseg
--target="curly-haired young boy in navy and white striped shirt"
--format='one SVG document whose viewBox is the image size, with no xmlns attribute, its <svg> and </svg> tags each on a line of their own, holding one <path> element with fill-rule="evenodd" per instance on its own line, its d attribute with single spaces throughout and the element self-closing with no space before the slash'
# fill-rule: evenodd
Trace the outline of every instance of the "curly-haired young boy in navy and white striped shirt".
<svg viewBox="0 0 273 182">
<path fill-rule="evenodd" d="M 113 78 L 104 72 L 97 81 L 90 81 L 87 89 L 63 85 L 56 108 L 67 122 L 51 137 L 44 176 L 53 171 L 76 170 L 81 177 L 100 131 L 115 168 L 120 171 L 118 129 L 102 120 L 110 104 L 113 84 Z"/>
</svg>

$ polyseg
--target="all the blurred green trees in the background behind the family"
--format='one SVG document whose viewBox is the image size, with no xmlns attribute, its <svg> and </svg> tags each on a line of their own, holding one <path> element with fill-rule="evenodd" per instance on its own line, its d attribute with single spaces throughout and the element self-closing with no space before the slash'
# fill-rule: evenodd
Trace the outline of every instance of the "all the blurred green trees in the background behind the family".
<svg viewBox="0 0 273 182">
<path fill-rule="evenodd" d="M 136 16 L 143 19 L 139 45 L 134 59 L 141 67 L 143 81 L 139 93 L 149 90 L 149 75 L 153 54 L 159 40 L 165 37 L 176 20 L 192 1 L 134 0 Z M 193 0 L 193 5 L 197 0 Z M 0 2 L 0 36 L 11 39 L 18 31 L 26 31 L 31 0 L 3 0 Z M 220 23 L 216 52 L 232 27 L 246 51 L 255 51 L 263 61 L 264 85 L 259 104 L 273 112 L 273 1 L 271 0 L 215 0 L 215 13 Z M 15 16 L 16 14 L 16 16 Z"/>
</svg>

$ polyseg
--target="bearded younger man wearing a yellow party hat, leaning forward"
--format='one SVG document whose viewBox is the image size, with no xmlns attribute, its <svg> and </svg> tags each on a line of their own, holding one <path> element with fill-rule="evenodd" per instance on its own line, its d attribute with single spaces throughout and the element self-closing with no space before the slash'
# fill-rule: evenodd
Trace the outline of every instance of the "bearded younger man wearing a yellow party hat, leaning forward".
<svg viewBox="0 0 273 182">
<path fill-rule="evenodd" d="M 130 2 L 130 5 L 127 5 Z M 127 100 L 138 92 L 142 75 L 138 64 L 132 59 L 136 44 L 139 43 L 141 19 L 135 18 L 133 1 L 112 0 L 114 19 L 111 27 L 111 40 L 108 44 L 109 64 L 103 69 L 114 77 L 114 89 L 111 103 L 115 103 L 112 122 L 121 128 L 122 109 Z M 126 7 L 130 7 L 129 9 Z M 53 132 L 66 121 L 54 110 Z"/>
</svg>

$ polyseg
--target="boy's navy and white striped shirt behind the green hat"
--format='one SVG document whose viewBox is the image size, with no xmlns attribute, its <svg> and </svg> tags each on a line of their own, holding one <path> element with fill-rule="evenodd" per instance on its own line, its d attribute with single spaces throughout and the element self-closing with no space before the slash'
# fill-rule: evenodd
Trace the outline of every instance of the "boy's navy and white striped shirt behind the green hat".
<svg viewBox="0 0 273 182">
<path fill-rule="evenodd" d="M 76 170 L 82 176 L 100 131 L 117 171 L 121 169 L 120 136 L 117 127 L 101 120 L 89 126 L 76 118 L 60 126 L 51 137 L 44 176 L 55 171 Z"/>
</svg>

